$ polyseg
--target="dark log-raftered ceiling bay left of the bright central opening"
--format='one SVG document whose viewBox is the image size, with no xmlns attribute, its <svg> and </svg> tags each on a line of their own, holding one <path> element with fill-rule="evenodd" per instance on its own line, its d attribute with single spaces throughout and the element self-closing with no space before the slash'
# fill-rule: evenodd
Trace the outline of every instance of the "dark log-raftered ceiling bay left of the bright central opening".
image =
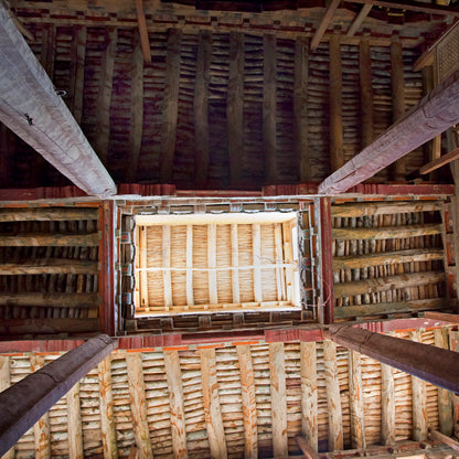
<svg viewBox="0 0 459 459">
<path fill-rule="evenodd" d="M 98 206 L 0 209 L 0 335 L 98 330 Z"/>
</svg>

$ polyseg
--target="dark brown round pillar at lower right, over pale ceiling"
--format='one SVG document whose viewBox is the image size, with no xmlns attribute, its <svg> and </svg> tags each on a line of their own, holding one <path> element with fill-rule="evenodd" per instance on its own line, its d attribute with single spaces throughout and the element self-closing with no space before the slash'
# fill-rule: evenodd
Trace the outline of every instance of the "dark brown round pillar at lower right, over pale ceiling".
<svg viewBox="0 0 459 459">
<path fill-rule="evenodd" d="M 459 392 L 457 352 L 354 327 L 331 327 L 328 338 L 439 387 Z"/>
</svg>

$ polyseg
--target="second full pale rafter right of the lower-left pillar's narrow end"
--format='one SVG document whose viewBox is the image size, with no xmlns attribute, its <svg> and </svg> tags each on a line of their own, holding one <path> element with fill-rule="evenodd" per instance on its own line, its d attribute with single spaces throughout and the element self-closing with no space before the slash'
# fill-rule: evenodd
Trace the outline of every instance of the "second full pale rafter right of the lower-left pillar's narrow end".
<svg viewBox="0 0 459 459">
<path fill-rule="evenodd" d="M 178 351 L 164 351 L 164 371 L 169 387 L 172 451 L 178 459 L 188 458 L 182 372 Z"/>
</svg>

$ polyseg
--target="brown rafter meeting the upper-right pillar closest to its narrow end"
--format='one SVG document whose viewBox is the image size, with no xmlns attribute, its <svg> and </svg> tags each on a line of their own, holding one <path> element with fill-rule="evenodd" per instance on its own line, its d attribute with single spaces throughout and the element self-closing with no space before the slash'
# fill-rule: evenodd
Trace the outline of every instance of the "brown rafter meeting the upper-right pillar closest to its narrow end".
<svg viewBox="0 0 459 459">
<path fill-rule="evenodd" d="M 341 39 L 338 31 L 330 38 L 330 167 L 334 172 L 344 164 L 342 117 Z"/>
</svg>

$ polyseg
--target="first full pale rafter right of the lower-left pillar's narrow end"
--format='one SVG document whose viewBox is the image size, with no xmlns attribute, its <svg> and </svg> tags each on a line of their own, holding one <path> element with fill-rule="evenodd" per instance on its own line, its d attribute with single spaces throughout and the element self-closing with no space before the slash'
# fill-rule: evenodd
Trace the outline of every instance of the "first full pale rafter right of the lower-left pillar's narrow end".
<svg viewBox="0 0 459 459">
<path fill-rule="evenodd" d="M 145 394 L 141 354 L 128 352 L 126 366 L 129 380 L 130 412 L 132 414 L 134 437 L 139 451 L 139 459 L 152 459 L 150 430 L 147 420 L 147 398 Z"/>
</svg>

